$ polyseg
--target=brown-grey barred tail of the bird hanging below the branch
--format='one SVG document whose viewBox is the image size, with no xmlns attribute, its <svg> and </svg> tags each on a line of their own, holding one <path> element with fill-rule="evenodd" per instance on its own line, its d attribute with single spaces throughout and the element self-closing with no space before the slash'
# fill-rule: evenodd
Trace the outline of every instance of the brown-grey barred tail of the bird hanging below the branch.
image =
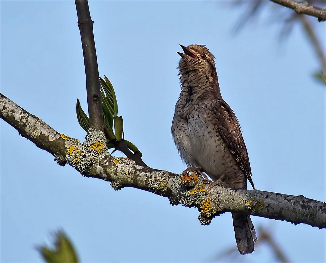
<svg viewBox="0 0 326 263">
<path fill-rule="evenodd" d="M 232 213 L 235 241 L 240 254 L 254 251 L 254 242 L 257 241 L 256 231 L 250 216 L 242 213 Z"/>
</svg>

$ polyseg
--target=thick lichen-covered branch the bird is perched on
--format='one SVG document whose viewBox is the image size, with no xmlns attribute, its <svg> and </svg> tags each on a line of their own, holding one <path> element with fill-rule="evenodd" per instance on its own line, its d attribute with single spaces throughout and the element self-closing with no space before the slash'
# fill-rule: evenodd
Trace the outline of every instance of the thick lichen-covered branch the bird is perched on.
<svg viewBox="0 0 326 263">
<path fill-rule="evenodd" d="M 68 163 L 84 176 L 111 182 L 117 190 L 134 187 L 167 197 L 172 205 L 196 207 L 202 224 L 209 224 L 223 212 L 244 211 L 260 217 L 326 228 L 326 203 L 302 195 L 235 191 L 221 186 L 206 193 L 207 185 L 195 173 L 181 177 L 136 165 L 129 158 L 111 156 L 103 132 L 89 129 L 86 140 L 80 142 L 58 133 L 1 93 L 0 117 L 37 147 L 55 156 L 60 165 Z"/>
</svg>

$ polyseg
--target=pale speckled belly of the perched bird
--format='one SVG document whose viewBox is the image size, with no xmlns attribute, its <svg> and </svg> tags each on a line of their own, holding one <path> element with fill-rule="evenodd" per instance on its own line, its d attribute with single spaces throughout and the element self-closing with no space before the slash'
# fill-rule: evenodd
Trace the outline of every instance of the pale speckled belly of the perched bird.
<svg viewBox="0 0 326 263">
<path fill-rule="evenodd" d="M 239 172 L 234 157 L 211 123 L 204 122 L 203 118 L 190 116 L 188 132 L 192 159 L 213 180 L 221 175 L 233 177 Z"/>
</svg>

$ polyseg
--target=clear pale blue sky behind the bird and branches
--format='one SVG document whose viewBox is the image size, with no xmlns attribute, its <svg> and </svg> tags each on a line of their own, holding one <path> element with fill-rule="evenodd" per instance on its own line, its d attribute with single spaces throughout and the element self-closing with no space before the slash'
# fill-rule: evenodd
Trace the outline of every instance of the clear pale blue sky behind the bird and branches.
<svg viewBox="0 0 326 263">
<path fill-rule="evenodd" d="M 111 80 L 124 131 L 151 167 L 185 169 L 170 136 L 180 84 L 179 44 L 206 44 L 235 111 L 255 186 L 325 201 L 325 87 L 302 30 L 233 28 L 244 9 L 225 2 L 90 1 L 99 74 Z M 314 20 L 319 32 L 325 24 Z M 60 133 L 83 140 L 84 63 L 74 1 L 1 2 L 1 92 Z M 235 246 L 229 213 L 201 226 L 198 211 L 138 189 L 84 178 L 1 121 L 1 261 L 41 262 L 35 250 L 64 229 L 82 262 L 210 261 Z M 325 261 L 325 230 L 252 217 L 293 262 Z M 243 261 L 274 261 L 257 247 Z M 223 259 L 225 261 L 227 259 Z"/>
</svg>

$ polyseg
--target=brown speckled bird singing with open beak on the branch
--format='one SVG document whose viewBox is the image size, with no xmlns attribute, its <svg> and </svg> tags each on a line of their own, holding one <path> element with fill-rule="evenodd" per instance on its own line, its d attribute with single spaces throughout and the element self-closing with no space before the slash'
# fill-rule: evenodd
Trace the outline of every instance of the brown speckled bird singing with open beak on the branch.
<svg viewBox="0 0 326 263">
<path fill-rule="evenodd" d="M 255 189 L 239 121 L 220 92 L 214 55 L 205 45 L 180 46 L 181 92 L 171 134 L 181 159 L 224 187 L 246 189 L 248 179 Z M 252 253 L 257 236 L 250 216 L 231 214 L 240 254 Z"/>
</svg>

